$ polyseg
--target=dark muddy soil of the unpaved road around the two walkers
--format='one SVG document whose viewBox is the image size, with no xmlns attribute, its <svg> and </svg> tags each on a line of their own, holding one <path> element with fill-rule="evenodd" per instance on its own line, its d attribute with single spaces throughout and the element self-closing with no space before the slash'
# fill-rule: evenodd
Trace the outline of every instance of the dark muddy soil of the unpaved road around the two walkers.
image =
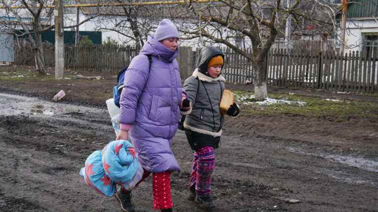
<svg viewBox="0 0 378 212">
<path fill-rule="evenodd" d="M 67 96 L 62 104 L 97 108 L 94 113 L 52 117 L 0 116 L 0 211 L 120 211 L 114 198 L 97 194 L 79 175 L 88 155 L 114 139 L 104 101 L 111 98 L 115 74 L 80 74 L 104 79 L 0 80 L 0 93 L 51 101 L 63 89 Z M 270 92 L 377 101 L 324 91 L 270 88 Z M 172 149 L 182 168 L 171 179 L 175 211 L 201 211 L 187 200 L 192 156 L 181 131 Z M 213 211 L 378 211 L 377 164 L 375 119 L 352 116 L 335 122 L 242 113 L 227 119 L 216 150 Z M 153 211 L 151 189 L 149 177 L 133 192 L 138 211 Z"/>
</svg>

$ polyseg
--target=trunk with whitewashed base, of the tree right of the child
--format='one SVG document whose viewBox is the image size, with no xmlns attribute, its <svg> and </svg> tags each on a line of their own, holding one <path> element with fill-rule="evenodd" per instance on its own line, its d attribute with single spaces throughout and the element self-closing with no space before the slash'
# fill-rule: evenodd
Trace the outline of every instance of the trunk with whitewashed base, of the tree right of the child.
<svg viewBox="0 0 378 212">
<path fill-rule="evenodd" d="M 268 97 L 265 60 L 256 62 L 255 71 L 255 98 L 264 101 Z"/>
</svg>

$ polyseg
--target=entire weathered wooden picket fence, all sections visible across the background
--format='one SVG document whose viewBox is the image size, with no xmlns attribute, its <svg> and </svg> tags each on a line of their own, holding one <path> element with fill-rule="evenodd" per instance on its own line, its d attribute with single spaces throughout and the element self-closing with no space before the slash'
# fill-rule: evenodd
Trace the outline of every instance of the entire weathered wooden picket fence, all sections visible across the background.
<svg viewBox="0 0 378 212">
<path fill-rule="evenodd" d="M 222 48 L 225 55 L 223 75 L 227 82 L 253 83 L 254 66 L 251 61 L 231 49 Z M 246 49 L 252 54 L 251 49 Z M 126 45 L 65 46 L 65 68 L 84 71 L 117 73 L 128 65 L 139 50 Z M 200 49 L 180 47 L 177 61 L 181 76 L 188 77 L 195 68 Z M 27 55 L 29 54 L 29 55 Z M 55 65 L 53 45 L 44 46 L 45 63 Z M 16 50 L 18 65 L 34 65 L 30 51 Z M 378 92 L 378 56 L 366 57 L 361 52 L 343 56 L 328 53 L 272 50 L 266 63 L 267 84 L 272 86 L 302 87 L 355 93 Z"/>
</svg>

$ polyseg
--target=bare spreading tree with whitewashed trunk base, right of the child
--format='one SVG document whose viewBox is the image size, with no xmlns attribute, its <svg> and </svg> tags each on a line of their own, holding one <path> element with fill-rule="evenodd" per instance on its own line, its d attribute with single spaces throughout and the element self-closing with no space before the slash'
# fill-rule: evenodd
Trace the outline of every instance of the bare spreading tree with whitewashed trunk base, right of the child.
<svg viewBox="0 0 378 212">
<path fill-rule="evenodd" d="M 331 31 L 335 24 L 329 18 L 335 10 L 322 0 L 219 0 L 195 5 L 188 0 L 185 16 L 196 17 L 191 24 L 194 30 L 182 30 L 187 38 L 204 37 L 214 43 L 221 43 L 252 62 L 255 96 L 258 100 L 267 97 L 266 62 L 270 48 L 278 37 L 283 37 L 286 19 L 291 15 L 293 25 L 311 22 L 324 30 Z M 327 7 L 328 6 L 328 7 Z M 333 8 L 333 7 L 332 7 Z M 321 15 L 321 13 L 327 15 Z M 314 15 L 316 13 L 316 15 Z M 192 19 L 193 20 L 193 19 Z M 299 26 L 302 28 L 302 26 Z M 251 43 L 252 54 L 236 44 L 235 37 L 244 37 Z"/>
</svg>

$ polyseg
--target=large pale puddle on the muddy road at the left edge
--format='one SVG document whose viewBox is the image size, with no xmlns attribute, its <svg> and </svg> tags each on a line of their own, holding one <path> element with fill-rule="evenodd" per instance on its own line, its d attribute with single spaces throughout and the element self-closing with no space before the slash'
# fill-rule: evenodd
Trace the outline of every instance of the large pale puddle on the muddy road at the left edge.
<svg viewBox="0 0 378 212">
<path fill-rule="evenodd" d="M 66 113 L 94 112 L 94 108 L 52 103 L 24 96 L 0 93 L 0 116 L 62 115 Z"/>
</svg>

